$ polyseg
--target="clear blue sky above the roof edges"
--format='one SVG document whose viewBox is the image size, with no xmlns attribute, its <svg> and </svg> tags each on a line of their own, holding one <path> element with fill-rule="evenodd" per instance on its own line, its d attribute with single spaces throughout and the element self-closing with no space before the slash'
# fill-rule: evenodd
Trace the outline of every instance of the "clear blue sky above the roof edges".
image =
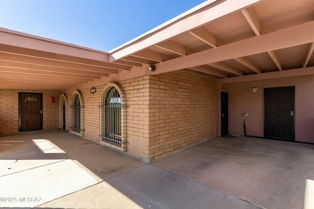
<svg viewBox="0 0 314 209">
<path fill-rule="evenodd" d="M 0 0 L 0 27 L 109 51 L 206 0 Z"/>
</svg>

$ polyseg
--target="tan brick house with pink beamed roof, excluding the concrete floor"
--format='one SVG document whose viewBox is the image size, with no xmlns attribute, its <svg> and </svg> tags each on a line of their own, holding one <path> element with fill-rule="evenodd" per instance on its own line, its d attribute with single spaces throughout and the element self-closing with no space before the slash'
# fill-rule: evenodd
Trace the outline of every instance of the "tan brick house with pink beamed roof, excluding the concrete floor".
<svg viewBox="0 0 314 209">
<path fill-rule="evenodd" d="M 144 162 L 244 135 L 243 120 L 314 143 L 313 14 L 313 0 L 207 0 L 108 52 L 0 28 L 0 134 L 63 129 Z"/>
</svg>

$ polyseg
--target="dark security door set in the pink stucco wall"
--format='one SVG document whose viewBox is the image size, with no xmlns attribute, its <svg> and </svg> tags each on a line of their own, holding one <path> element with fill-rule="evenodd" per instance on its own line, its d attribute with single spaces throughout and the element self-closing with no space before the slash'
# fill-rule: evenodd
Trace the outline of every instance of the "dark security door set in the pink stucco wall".
<svg viewBox="0 0 314 209">
<path fill-rule="evenodd" d="M 294 87 L 264 89 L 264 138 L 294 141 Z"/>
</svg>

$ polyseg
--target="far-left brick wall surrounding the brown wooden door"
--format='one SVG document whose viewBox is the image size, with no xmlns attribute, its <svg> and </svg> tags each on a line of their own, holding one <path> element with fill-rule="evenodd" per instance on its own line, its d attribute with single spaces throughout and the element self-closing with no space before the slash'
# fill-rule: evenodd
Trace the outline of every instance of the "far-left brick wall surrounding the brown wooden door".
<svg viewBox="0 0 314 209">
<path fill-rule="evenodd" d="M 19 131 L 19 92 L 43 94 L 43 130 L 58 128 L 59 91 L 0 90 L 0 134 Z M 54 102 L 49 103 L 49 97 Z"/>
</svg>

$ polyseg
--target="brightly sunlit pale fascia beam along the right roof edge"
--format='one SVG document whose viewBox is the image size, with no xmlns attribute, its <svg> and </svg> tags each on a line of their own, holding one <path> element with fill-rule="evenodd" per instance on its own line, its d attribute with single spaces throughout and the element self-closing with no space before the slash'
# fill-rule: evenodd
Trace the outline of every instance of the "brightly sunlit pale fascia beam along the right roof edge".
<svg viewBox="0 0 314 209">
<path fill-rule="evenodd" d="M 261 0 L 223 0 L 215 3 L 216 0 L 208 0 L 200 7 L 196 7 L 189 13 L 183 13 L 175 21 L 168 23 L 162 28 L 156 28 L 137 38 L 135 41 L 121 48 L 111 51 L 109 54 L 109 62 L 121 59 L 129 54 L 136 53 L 150 46 L 158 45 L 165 40 L 169 40 L 179 34 L 198 28 L 213 20 L 231 14 L 235 11 L 249 7 Z"/>
</svg>

